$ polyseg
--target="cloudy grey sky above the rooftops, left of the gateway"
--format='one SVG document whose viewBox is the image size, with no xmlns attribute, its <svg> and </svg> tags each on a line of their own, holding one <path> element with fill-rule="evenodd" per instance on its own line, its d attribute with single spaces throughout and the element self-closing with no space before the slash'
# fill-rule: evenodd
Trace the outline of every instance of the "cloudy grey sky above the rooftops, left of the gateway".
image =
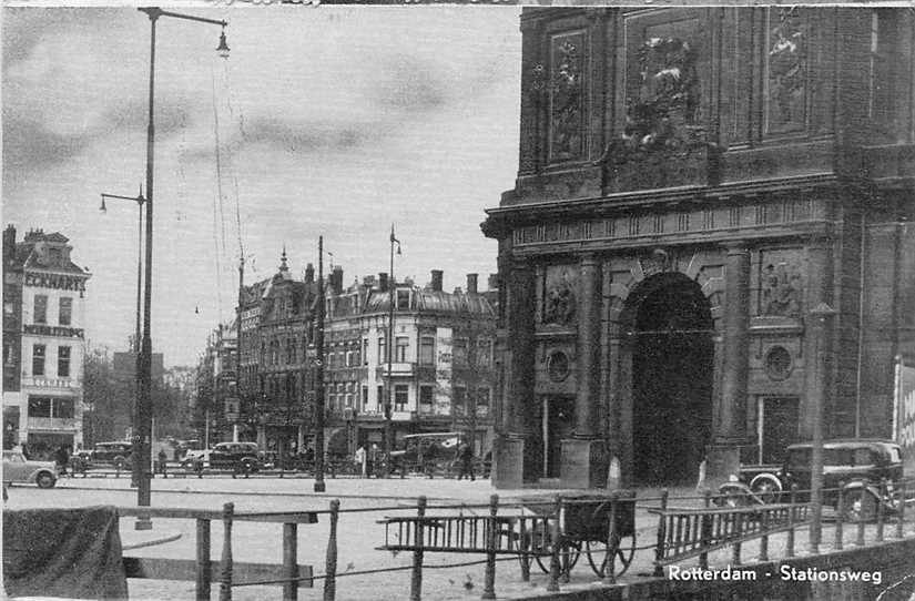
<svg viewBox="0 0 915 601">
<path fill-rule="evenodd" d="M 192 364 L 246 282 L 296 277 L 317 237 L 344 279 L 496 271 L 484 208 L 517 171 L 520 33 L 514 7 L 184 7 L 156 45 L 153 345 Z M 133 8 L 3 11 L 3 222 L 60 231 L 93 274 L 87 335 L 133 332 L 144 180 L 149 20 Z M 218 149 L 218 151 L 217 151 Z M 218 167 L 217 167 L 218 156 Z"/>
</svg>

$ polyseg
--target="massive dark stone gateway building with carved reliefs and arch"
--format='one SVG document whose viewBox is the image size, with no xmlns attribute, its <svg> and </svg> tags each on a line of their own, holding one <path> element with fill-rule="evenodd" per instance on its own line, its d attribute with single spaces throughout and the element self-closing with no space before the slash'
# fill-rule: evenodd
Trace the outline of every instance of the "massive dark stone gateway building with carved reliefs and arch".
<svg viewBox="0 0 915 601">
<path fill-rule="evenodd" d="M 891 435 L 915 13 L 529 8 L 495 485 L 694 482 Z"/>
</svg>

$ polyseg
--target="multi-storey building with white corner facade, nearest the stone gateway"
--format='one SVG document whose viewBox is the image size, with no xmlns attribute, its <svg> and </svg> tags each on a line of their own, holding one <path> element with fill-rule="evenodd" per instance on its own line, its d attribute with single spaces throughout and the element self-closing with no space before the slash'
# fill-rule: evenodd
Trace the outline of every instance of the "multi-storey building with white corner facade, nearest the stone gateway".
<svg viewBox="0 0 915 601">
<path fill-rule="evenodd" d="M 408 434 L 459 430 L 472 432 L 478 454 L 491 448 L 492 294 L 477 291 L 476 274 L 466 291 L 446 293 L 441 283 L 438 269 L 425 287 L 383 273 L 343 289 L 343 271 L 334 271 L 325 323 L 331 452 L 382 447 L 386 409 L 395 446 Z"/>
</svg>

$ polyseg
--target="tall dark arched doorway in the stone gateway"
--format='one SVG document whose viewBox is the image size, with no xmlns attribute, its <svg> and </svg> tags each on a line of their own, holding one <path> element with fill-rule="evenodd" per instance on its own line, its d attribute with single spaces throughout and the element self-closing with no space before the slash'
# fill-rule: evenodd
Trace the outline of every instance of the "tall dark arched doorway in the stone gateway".
<svg viewBox="0 0 915 601">
<path fill-rule="evenodd" d="M 680 273 L 654 275 L 630 297 L 632 476 L 694 482 L 712 435 L 711 306 Z"/>
</svg>

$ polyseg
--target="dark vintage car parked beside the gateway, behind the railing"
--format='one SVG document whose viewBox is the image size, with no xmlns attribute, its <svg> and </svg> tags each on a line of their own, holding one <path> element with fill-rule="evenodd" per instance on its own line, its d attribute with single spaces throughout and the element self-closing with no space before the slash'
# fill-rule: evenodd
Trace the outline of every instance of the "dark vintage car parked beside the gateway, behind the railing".
<svg viewBox="0 0 915 601">
<path fill-rule="evenodd" d="M 787 501 L 796 485 L 797 500 L 810 499 L 812 442 L 791 445 L 781 466 L 741 466 L 740 473 L 719 487 L 719 505 Z M 878 503 L 888 511 L 897 506 L 896 485 L 903 478 L 899 446 L 880 439 L 836 439 L 823 442 L 823 502 L 838 507 L 844 498 L 844 518 L 872 519 Z M 881 482 L 886 489 L 881 490 Z"/>
</svg>

